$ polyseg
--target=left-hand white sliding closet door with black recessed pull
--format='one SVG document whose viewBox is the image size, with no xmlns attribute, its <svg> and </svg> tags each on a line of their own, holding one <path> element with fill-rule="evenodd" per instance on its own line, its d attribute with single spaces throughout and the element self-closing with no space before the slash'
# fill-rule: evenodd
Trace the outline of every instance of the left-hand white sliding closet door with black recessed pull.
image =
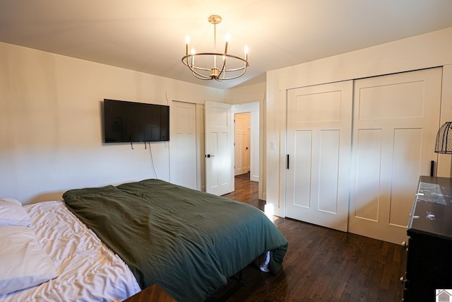
<svg viewBox="0 0 452 302">
<path fill-rule="evenodd" d="M 352 81 L 287 91 L 287 217 L 347 231 L 352 93 Z"/>
</svg>

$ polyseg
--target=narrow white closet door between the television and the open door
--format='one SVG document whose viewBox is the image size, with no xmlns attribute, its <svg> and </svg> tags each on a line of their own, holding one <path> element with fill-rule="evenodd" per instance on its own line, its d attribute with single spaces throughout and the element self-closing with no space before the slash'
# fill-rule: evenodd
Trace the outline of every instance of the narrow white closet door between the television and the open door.
<svg viewBox="0 0 452 302">
<path fill-rule="evenodd" d="M 173 101 L 171 117 L 170 181 L 196 190 L 196 105 Z"/>
</svg>

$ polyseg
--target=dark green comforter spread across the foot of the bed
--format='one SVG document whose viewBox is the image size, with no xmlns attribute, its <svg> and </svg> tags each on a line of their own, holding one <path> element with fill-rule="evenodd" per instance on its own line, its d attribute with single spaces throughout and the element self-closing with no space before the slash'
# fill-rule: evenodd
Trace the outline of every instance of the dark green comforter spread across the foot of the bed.
<svg viewBox="0 0 452 302">
<path fill-rule="evenodd" d="M 177 301 L 204 301 L 270 251 L 282 267 L 287 240 L 262 211 L 162 180 L 69 190 L 66 205 L 119 257 L 141 288 L 159 284 Z"/>
</svg>

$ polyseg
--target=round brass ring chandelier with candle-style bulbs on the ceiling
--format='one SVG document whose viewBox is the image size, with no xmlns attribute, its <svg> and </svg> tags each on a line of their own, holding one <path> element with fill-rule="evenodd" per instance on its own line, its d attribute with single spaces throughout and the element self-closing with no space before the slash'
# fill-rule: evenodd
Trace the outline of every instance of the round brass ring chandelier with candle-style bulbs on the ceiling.
<svg viewBox="0 0 452 302">
<path fill-rule="evenodd" d="M 213 52 L 198 52 L 194 48 L 189 53 L 190 37 L 185 37 L 185 56 L 182 57 L 182 63 L 189 67 L 191 73 L 201 80 L 232 80 L 243 76 L 248 64 L 248 47 L 245 46 L 245 56 L 237 57 L 227 53 L 227 45 L 230 41 L 230 34 L 225 36 L 225 52 L 217 52 L 217 24 L 221 23 L 222 18 L 212 15 L 208 18 L 210 24 L 213 24 Z M 196 58 L 196 64 L 195 64 Z M 218 62 L 217 62 L 218 61 Z M 208 67 L 213 66 L 213 67 Z"/>
</svg>

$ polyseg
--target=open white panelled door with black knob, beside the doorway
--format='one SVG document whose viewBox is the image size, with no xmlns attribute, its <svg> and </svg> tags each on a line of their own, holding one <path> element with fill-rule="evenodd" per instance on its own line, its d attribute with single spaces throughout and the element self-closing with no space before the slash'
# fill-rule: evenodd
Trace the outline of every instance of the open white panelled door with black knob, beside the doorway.
<svg viewBox="0 0 452 302">
<path fill-rule="evenodd" d="M 234 191 L 234 124 L 232 105 L 206 101 L 206 192 Z"/>
</svg>

